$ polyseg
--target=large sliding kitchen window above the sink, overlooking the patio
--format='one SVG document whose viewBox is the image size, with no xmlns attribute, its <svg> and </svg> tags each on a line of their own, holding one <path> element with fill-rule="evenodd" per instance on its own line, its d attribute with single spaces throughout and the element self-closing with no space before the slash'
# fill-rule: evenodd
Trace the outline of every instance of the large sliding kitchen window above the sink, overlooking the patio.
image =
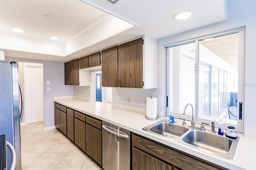
<svg viewBox="0 0 256 170">
<path fill-rule="evenodd" d="M 166 113 L 201 124 L 220 118 L 243 132 L 244 30 L 166 47 Z M 168 115 L 168 114 L 167 114 Z"/>
</svg>

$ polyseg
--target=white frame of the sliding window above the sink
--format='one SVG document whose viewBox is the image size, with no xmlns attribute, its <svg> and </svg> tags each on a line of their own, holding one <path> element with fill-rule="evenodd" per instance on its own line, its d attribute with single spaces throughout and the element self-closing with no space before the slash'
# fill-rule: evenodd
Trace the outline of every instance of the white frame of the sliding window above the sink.
<svg viewBox="0 0 256 170">
<path fill-rule="evenodd" d="M 233 33 L 238 33 L 238 92 L 242 93 L 242 95 L 238 95 L 238 105 L 239 102 L 242 102 L 242 120 L 239 120 L 239 113 L 238 113 L 238 122 L 237 122 L 237 126 L 234 126 L 236 128 L 235 131 L 237 132 L 241 132 L 244 133 L 244 56 L 245 56 L 245 28 L 238 28 L 238 29 L 234 29 L 234 30 L 229 30 L 229 31 L 224 31 L 221 33 L 216 33 L 216 34 L 211 34 L 208 36 L 201 36 L 200 38 L 194 38 L 194 39 L 190 39 L 190 40 L 183 40 L 183 41 L 179 41 L 176 43 L 171 43 L 171 44 L 167 44 L 164 45 L 165 48 L 165 55 L 166 55 L 166 65 L 165 65 L 165 74 L 166 74 L 166 94 L 164 95 L 164 101 L 166 101 L 166 116 L 170 115 L 169 113 L 169 106 L 170 106 L 170 98 L 174 98 L 173 96 L 169 96 L 170 94 L 170 89 L 169 89 L 169 48 L 170 47 L 175 47 L 175 46 L 179 46 L 179 45 L 184 45 L 184 44 L 188 44 L 188 43 L 193 43 L 195 42 L 195 69 L 196 69 L 196 77 L 195 77 L 195 83 L 196 83 L 196 88 L 195 88 L 195 102 L 196 102 L 196 106 L 194 107 L 194 111 L 195 111 L 195 122 L 198 124 L 201 124 L 201 122 L 204 123 L 208 123 L 211 125 L 211 121 L 206 121 L 206 120 L 202 120 L 202 119 L 198 119 L 198 69 L 200 67 L 200 65 L 198 64 L 199 59 L 198 59 L 198 50 L 199 50 L 199 41 L 200 40 L 204 40 L 207 38 L 212 38 L 212 37 L 217 37 L 217 36 L 224 36 L 227 34 L 233 34 Z M 172 93 L 173 94 L 173 93 Z M 239 108 L 239 106 L 238 106 Z M 180 119 L 185 119 L 188 121 L 191 121 L 191 116 L 188 115 L 180 115 L 180 114 L 176 114 L 175 112 L 173 113 L 174 117 L 176 118 L 180 118 Z M 218 121 L 219 120 L 215 120 L 216 125 L 218 126 Z M 224 124 L 224 128 L 226 129 L 229 125 L 228 124 Z"/>
</svg>

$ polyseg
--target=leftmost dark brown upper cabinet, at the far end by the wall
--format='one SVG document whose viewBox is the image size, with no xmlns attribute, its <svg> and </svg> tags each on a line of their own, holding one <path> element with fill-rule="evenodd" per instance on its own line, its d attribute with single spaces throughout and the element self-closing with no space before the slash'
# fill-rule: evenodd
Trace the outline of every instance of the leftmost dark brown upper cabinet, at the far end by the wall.
<svg viewBox="0 0 256 170">
<path fill-rule="evenodd" d="M 64 63 L 65 85 L 79 85 L 78 59 Z"/>
</svg>

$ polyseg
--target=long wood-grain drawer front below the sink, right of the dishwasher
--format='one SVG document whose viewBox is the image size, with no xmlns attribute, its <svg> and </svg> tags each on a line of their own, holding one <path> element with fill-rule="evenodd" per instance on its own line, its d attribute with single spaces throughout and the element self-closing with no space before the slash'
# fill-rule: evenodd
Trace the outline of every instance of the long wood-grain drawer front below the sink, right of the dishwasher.
<svg viewBox="0 0 256 170">
<path fill-rule="evenodd" d="M 171 150 L 168 147 L 152 142 L 151 140 L 147 140 L 145 138 L 136 136 L 134 134 L 132 134 L 132 146 L 144 150 L 145 152 L 152 154 L 157 158 L 160 158 L 161 160 L 164 160 L 169 164 L 172 164 L 181 169 L 188 169 L 188 167 L 190 169 L 197 170 L 219 169 L 214 166 L 211 166 L 210 164 L 195 159 L 196 157 L 192 158 L 180 152 Z"/>
</svg>

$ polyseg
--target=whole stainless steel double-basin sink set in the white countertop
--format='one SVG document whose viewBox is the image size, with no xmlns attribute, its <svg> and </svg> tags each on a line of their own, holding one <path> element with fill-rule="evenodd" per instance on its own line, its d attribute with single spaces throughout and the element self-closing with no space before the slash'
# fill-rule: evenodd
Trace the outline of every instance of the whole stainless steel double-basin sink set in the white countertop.
<svg viewBox="0 0 256 170">
<path fill-rule="evenodd" d="M 193 127 L 184 127 L 162 120 L 143 128 L 147 132 L 165 136 L 194 148 L 210 152 L 227 159 L 234 159 L 239 137 L 236 139 L 218 134 L 196 130 Z"/>
</svg>

